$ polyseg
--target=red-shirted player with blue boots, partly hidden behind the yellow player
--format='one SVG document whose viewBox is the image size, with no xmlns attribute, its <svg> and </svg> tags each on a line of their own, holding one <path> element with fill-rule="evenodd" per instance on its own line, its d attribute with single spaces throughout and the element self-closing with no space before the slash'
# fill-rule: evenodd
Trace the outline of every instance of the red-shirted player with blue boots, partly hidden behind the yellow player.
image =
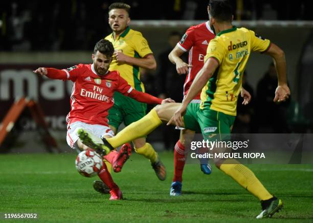
<svg viewBox="0 0 313 223">
<path fill-rule="evenodd" d="M 214 31 L 211 29 L 210 21 L 205 23 L 191 26 L 187 29 L 180 42 L 168 55 L 169 60 L 176 65 L 178 74 L 187 74 L 184 84 L 184 98 L 186 97 L 189 88 L 204 65 L 204 57 L 207 54 L 208 44 L 211 39 L 215 38 Z M 180 57 L 185 52 L 188 52 L 188 63 L 184 62 Z M 191 103 L 200 103 L 199 92 Z M 248 97 L 249 101 L 251 96 L 249 92 L 242 88 L 242 96 Z M 181 129 L 180 139 L 177 141 L 174 148 L 174 176 L 170 189 L 171 196 L 181 195 L 183 170 L 185 166 L 185 145 L 188 145 L 193 139 L 195 132 L 189 129 Z M 211 173 L 211 165 L 207 160 L 200 161 L 200 168 L 205 174 Z"/>
</svg>

